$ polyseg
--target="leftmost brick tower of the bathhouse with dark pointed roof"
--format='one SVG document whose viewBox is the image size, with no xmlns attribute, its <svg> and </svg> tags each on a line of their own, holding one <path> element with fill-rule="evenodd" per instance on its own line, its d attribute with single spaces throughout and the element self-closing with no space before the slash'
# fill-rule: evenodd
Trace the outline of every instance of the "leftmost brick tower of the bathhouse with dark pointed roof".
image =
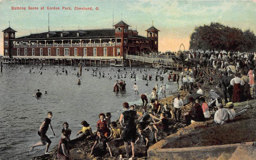
<svg viewBox="0 0 256 160">
<path fill-rule="evenodd" d="M 3 30 L 4 32 L 4 55 L 12 57 L 12 44 L 11 40 L 15 39 L 15 30 L 13 30 L 10 26 Z"/>
</svg>

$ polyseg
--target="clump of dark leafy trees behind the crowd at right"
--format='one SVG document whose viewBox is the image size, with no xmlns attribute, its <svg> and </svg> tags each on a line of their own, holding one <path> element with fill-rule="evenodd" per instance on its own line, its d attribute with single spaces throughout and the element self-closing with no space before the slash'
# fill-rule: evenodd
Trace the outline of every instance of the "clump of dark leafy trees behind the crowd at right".
<svg viewBox="0 0 256 160">
<path fill-rule="evenodd" d="M 212 22 L 210 25 L 196 27 L 190 36 L 189 49 L 225 50 L 231 52 L 255 52 L 256 36 L 250 29 L 244 32 L 239 28 Z"/>
</svg>

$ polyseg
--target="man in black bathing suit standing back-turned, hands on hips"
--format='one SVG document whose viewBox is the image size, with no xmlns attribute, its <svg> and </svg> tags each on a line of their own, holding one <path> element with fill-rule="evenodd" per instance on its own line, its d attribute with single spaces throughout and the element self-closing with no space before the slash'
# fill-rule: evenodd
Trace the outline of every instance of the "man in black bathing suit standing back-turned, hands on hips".
<svg viewBox="0 0 256 160">
<path fill-rule="evenodd" d="M 132 158 L 134 158 L 135 155 L 135 149 L 134 149 L 134 143 L 136 140 L 136 122 L 139 122 L 142 118 L 142 114 L 133 110 L 129 110 L 129 104 L 127 102 L 123 103 L 124 112 L 120 115 L 120 125 L 124 128 L 123 131 L 123 139 L 124 139 L 124 148 L 126 151 L 127 157 L 129 156 L 129 146 L 128 142 L 131 142 L 131 148 L 132 148 Z M 139 117 L 136 122 L 135 118 Z M 124 121 L 123 121 L 124 120 Z"/>
</svg>

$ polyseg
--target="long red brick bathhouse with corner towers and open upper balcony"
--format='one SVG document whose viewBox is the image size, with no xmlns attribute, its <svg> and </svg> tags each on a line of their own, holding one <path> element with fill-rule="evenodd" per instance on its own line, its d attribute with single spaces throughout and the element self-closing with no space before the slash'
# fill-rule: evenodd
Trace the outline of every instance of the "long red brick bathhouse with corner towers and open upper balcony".
<svg viewBox="0 0 256 160">
<path fill-rule="evenodd" d="M 154 26 L 146 30 L 147 37 L 138 35 L 137 30 L 129 29 L 123 21 L 115 28 L 48 31 L 15 37 L 15 30 L 8 27 L 4 32 L 4 55 L 19 56 L 107 56 L 122 57 L 127 53 L 158 51 L 158 31 Z M 86 58 L 86 57 L 84 57 Z"/>
</svg>

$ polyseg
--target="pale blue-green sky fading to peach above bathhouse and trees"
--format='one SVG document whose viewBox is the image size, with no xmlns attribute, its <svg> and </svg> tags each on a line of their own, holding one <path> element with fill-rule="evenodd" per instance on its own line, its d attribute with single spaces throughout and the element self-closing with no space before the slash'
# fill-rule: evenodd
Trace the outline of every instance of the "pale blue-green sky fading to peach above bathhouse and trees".
<svg viewBox="0 0 256 160">
<path fill-rule="evenodd" d="M 12 10 L 26 7 L 26 10 Z M 39 10 L 28 10 L 28 7 Z M 40 10 L 44 6 L 44 10 Z M 46 7 L 60 7 L 47 10 Z M 62 10 L 62 6 L 72 10 Z M 91 7 L 93 11 L 77 11 L 75 7 Z M 98 7 L 97 11 L 95 8 Z M 159 51 L 178 51 L 183 43 L 189 48 L 190 35 L 195 26 L 220 22 L 223 25 L 251 29 L 256 32 L 256 1 L 163 1 L 163 0 L 0 0 L 0 29 L 10 27 L 17 31 L 16 38 L 31 33 L 50 31 L 112 28 L 121 21 L 137 25 L 139 35 L 147 36 L 145 30 L 154 26 L 159 32 Z M 3 32 L 0 36 L 0 55 L 3 55 Z"/>
</svg>

